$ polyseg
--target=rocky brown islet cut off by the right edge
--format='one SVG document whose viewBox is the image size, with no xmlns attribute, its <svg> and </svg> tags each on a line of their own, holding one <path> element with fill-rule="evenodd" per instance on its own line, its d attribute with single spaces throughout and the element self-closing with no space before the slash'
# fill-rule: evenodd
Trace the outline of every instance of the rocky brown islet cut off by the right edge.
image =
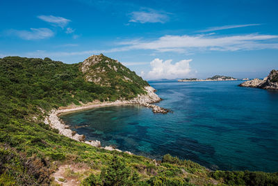
<svg viewBox="0 0 278 186">
<path fill-rule="evenodd" d="M 271 70 L 268 77 L 264 79 L 252 79 L 238 86 L 278 90 L 278 70 Z"/>
</svg>

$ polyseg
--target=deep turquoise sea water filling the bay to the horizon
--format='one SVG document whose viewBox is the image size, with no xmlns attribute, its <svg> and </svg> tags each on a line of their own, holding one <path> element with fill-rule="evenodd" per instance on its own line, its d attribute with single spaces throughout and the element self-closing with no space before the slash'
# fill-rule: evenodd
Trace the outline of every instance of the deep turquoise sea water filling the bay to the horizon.
<svg viewBox="0 0 278 186">
<path fill-rule="evenodd" d="M 141 106 L 61 116 L 87 139 L 136 155 L 166 153 L 210 169 L 278 171 L 278 91 L 240 82 L 149 82 L 173 114 Z M 78 128 L 75 128 L 79 126 Z"/>
</svg>

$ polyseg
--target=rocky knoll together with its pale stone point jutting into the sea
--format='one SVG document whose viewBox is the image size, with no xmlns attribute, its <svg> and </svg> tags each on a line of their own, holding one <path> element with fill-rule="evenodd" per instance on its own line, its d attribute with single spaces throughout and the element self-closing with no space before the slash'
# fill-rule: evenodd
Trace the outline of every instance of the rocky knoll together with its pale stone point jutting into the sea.
<svg viewBox="0 0 278 186">
<path fill-rule="evenodd" d="M 156 90 L 136 75 L 135 72 L 132 72 L 117 60 L 110 59 L 103 54 L 92 55 L 81 63 L 79 70 L 83 73 L 87 82 L 93 82 L 102 87 L 115 87 L 115 91 L 119 93 L 129 88 L 129 95 L 135 95 L 133 91 L 135 89 L 140 90 L 135 98 L 129 100 L 111 100 L 107 98 L 108 102 L 117 101 L 123 102 L 124 104 L 141 104 L 145 107 L 152 108 L 154 113 L 165 114 L 169 111 L 152 104 L 161 101 L 161 98 L 155 93 Z"/>
</svg>

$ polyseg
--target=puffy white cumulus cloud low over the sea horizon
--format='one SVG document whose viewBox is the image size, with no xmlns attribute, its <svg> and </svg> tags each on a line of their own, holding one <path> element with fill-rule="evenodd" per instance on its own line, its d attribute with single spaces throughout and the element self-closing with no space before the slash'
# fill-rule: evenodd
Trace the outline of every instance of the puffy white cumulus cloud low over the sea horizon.
<svg viewBox="0 0 278 186">
<path fill-rule="evenodd" d="M 150 65 L 152 70 L 141 72 L 141 75 L 147 79 L 176 79 L 188 76 L 191 72 L 190 61 L 192 59 L 181 60 L 172 64 L 172 59 L 163 61 L 162 59 L 154 59 Z"/>
</svg>

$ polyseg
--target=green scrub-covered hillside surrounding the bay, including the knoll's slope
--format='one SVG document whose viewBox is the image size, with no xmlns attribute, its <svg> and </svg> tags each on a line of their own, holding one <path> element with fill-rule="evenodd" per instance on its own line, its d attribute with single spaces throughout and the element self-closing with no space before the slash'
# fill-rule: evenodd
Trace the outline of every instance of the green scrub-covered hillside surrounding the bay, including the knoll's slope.
<svg viewBox="0 0 278 186">
<path fill-rule="evenodd" d="M 85 170 L 65 173 L 82 185 L 278 185 L 277 173 L 210 171 L 170 155 L 155 162 L 74 141 L 45 125 L 41 110 L 144 93 L 148 84 L 135 72 L 106 56 L 97 59 L 89 58 L 85 71 L 85 63 L 0 59 L 0 185 L 57 185 L 51 173 L 63 164 Z"/>
</svg>

